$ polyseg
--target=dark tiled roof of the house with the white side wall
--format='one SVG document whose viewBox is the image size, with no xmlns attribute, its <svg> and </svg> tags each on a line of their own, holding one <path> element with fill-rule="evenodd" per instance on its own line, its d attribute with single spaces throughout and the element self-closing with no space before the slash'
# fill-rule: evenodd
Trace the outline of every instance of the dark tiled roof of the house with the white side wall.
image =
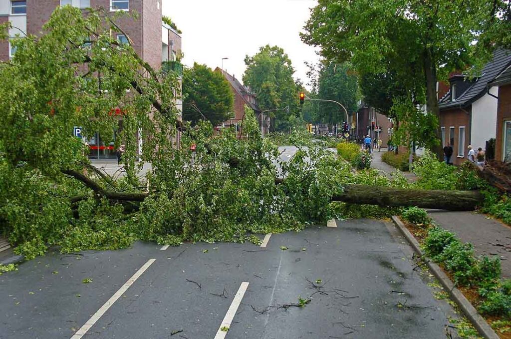
<svg viewBox="0 0 511 339">
<path fill-rule="evenodd" d="M 511 51 L 499 49 L 495 51 L 493 60 L 484 65 L 481 75 L 467 91 L 456 100 L 451 101 L 451 96 L 446 95 L 439 102 L 440 109 L 453 107 L 466 107 L 482 97 L 487 91 L 487 85 L 492 82 L 499 73 L 511 64 Z"/>
</svg>

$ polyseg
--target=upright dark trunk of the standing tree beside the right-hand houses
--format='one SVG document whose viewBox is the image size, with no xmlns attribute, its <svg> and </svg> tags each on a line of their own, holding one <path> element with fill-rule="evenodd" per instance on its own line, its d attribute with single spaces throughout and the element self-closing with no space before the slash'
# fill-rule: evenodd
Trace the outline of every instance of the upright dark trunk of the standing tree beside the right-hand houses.
<svg viewBox="0 0 511 339">
<path fill-rule="evenodd" d="M 440 109 L 438 107 L 438 97 L 436 93 L 436 65 L 433 59 L 433 51 L 427 48 L 424 51 L 424 75 L 426 77 L 426 110 L 438 118 L 438 126 L 435 130 L 436 138 L 442 140 L 442 129 L 440 128 Z M 439 160 L 443 159 L 442 145 L 439 143 L 433 147 Z"/>
</svg>

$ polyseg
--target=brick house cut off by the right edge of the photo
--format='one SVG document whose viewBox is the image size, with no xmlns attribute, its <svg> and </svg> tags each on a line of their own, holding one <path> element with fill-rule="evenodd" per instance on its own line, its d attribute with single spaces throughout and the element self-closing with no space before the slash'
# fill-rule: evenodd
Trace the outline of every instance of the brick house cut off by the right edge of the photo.
<svg viewBox="0 0 511 339">
<path fill-rule="evenodd" d="M 511 65 L 489 87 L 498 87 L 495 159 L 511 162 Z"/>
</svg>

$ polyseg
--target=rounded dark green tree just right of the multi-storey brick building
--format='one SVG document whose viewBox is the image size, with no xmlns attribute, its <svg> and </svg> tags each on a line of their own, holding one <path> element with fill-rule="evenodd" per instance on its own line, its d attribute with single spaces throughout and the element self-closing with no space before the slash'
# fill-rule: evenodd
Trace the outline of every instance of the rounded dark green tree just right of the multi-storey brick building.
<svg viewBox="0 0 511 339">
<path fill-rule="evenodd" d="M 234 95 L 221 73 L 195 63 L 183 72 L 183 118 L 193 124 L 207 119 L 216 126 L 229 118 Z"/>
</svg>

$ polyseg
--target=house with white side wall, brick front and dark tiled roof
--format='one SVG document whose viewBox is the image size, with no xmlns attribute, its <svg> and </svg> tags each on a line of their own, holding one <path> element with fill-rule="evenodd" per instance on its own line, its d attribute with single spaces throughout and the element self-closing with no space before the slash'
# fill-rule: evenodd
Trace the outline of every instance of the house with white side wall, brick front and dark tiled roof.
<svg viewBox="0 0 511 339">
<path fill-rule="evenodd" d="M 511 64 L 511 53 L 499 49 L 484 65 L 476 78 L 453 75 L 449 91 L 439 99 L 442 144 L 454 149 L 452 162 L 460 165 L 467 159 L 468 146 L 486 149 L 496 137 L 497 86 L 489 86 L 497 75 Z M 442 94 L 441 85 L 438 93 Z"/>
</svg>

